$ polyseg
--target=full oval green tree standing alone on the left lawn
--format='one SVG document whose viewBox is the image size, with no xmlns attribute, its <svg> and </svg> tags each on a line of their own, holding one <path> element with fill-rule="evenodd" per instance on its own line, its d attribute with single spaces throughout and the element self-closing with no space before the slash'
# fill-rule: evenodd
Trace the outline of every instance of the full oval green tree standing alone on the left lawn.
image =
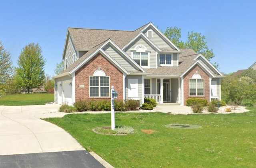
<svg viewBox="0 0 256 168">
<path fill-rule="evenodd" d="M 46 60 L 38 43 L 26 45 L 18 58 L 16 68 L 16 82 L 18 86 L 28 90 L 38 88 L 44 84 L 44 66 Z"/>
</svg>

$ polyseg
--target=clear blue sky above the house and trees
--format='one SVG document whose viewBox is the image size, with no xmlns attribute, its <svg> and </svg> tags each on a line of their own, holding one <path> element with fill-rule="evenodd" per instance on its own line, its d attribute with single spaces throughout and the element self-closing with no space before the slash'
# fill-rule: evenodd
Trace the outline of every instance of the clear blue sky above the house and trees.
<svg viewBox="0 0 256 168">
<path fill-rule="evenodd" d="M 0 41 L 14 66 L 22 47 L 42 47 L 45 72 L 54 75 L 68 27 L 135 30 L 152 21 L 160 30 L 180 27 L 206 36 L 221 72 L 246 69 L 256 61 L 255 0 L 1 0 Z"/>
</svg>

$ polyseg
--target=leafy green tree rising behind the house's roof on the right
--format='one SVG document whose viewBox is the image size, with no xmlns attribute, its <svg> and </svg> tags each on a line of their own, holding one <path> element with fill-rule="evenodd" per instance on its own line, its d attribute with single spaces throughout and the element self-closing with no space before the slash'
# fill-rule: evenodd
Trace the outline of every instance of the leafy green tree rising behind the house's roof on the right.
<svg viewBox="0 0 256 168">
<path fill-rule="evenodd" d="M 194 31 L 188 32 L 186 42 L 181 40 L 181 29 L 178 27 L 167 27 L 164 35 L 174 43 L 178 48 L 192 48 L 196 53 L 201 53 L 208 61 L 214 58 L 212 49 L 208 48 L 206 37 Z M 213 63 L 218 67 L 217 63 Z"/>
</svg>

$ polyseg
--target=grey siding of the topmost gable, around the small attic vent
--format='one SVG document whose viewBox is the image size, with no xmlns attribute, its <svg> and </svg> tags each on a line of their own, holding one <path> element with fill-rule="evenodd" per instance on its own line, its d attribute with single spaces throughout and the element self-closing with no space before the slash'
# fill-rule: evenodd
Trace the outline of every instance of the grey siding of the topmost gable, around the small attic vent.
<svg viewBox="0 0 256 168">
<path fill-rule="evenodd" d="M 146 29 L 143 33 L 147 36 L 147 32 L 149 29 L 152 29 L 151 27 L 148 27 L 148 29 Z M 152 29 L 153 31 L 153 37 L 148 37 L 158 48 L 160 49 L 175 49 L 174 47 L 172 47 L 171 45 L 168 45 L 168 43 L 166 43 L 166 41 L 163 39 L 163 37 L 160 37 L 158 35 L 158 33 L 156 33 L 156 31 L 154 31 L 154 29 Z"/>
</svg>

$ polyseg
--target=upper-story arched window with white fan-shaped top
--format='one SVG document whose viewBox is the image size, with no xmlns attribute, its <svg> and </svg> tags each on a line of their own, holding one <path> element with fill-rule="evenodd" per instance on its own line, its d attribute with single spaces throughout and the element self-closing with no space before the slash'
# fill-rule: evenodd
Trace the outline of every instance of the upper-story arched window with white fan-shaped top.
<svg viewBox="0 0 256 168">
<path fill-rule="evenodd" d="M 148 66 L 149 52 L 144 45 L 137 45 L 132 52 L 132 59 L 140 66 Z"/>
</svg>

